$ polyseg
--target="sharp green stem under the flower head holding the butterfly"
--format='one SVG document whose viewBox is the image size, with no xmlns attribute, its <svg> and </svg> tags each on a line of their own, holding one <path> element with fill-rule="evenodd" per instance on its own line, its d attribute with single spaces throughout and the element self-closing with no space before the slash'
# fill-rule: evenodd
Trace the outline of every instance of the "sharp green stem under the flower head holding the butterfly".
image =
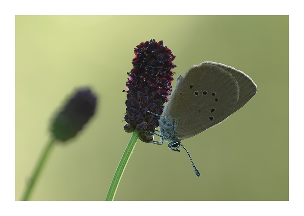
<svg viewBox="0 0 304 216">
<path fill-rule="evenodd" d="M 117 187 L 119 185 L 121 176 L 123 175 L 123 171 L 125 171 L 126 165 L 127 165 L 128 161 L 130 159 L 130 156 L 133 152 L 133 149 L 135 148 L 135 145 L 136 145 L 137 140 L 139 138 L 139 134 L 140 134 L 139 131 L 137 131 L 135 129 L 135 131 L 133 132 L 133 134 L 132 134 L 132 136 L 129 140 L 129 143 L 128 143 L 126 149 L 125 149 L 125 152 L 123 152 L 123 156 L 121 157 L 121 159 L 119 161 L 119 164 L 116 168 L 116 171 L 115 171 L 114 177 L 112 179 L 107 197 L 105 198 L 106 201 L 114 200 L 116 190 L 117 190 Z"/>
</svg>

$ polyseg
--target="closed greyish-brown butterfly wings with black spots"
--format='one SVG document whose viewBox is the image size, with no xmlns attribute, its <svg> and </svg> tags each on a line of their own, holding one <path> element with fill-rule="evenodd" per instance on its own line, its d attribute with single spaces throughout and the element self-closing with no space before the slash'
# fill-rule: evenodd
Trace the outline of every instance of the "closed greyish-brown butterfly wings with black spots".
<svg viewBox="0 0 304 216">
<path fill-rule="evenodd" d="M 199 134 L 244 106 L 256 92 L 256 85 L 248 78 L 241 71 L 214 62 L 194 65 L 184 77 L 179 77 L 164 110 L 164 115 L 174 121 L 178 138 Z M 249 84 L 243 85 L 248 80 L 250 86 L 254 84 L 255 92 L 254 88 L 246 90 Z"/>
</svg>

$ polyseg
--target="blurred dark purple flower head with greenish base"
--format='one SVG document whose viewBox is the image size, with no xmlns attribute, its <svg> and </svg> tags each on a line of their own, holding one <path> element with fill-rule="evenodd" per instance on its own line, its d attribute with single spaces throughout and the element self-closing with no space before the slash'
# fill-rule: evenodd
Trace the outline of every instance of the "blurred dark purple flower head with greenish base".
<svg viewBox="0 0 304 216">
<path fill-rule="evenodd" d="M 97 97 L 90 89 L 78 89 L 52 120 L 50 131 L 54 138 L 67 141 L 76 136 L 94 115 Z"/>
</svg>

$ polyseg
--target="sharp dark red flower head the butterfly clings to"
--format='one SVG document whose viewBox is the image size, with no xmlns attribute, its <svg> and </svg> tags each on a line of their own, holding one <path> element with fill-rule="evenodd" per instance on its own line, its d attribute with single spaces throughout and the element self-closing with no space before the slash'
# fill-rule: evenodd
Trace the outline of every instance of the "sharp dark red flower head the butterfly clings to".
<svg viewBox="0 0 304 216">
<path fill-rule="evenodd" d="M 164 103 L 168 101 L 173 81 L 171 71 L 176 65 L 172 63 L 175 56 L 171 50 L 153 39 L 136 46 L 132 64 L 133 69 L 128 72 L 126 82 L 127 100 L 125 120 L 126 132 L 140 131 L 140 139 L 144 142 L 152 141 L 153 136 L 147 132 L 154 132 L 158 127 L 158 119 L 150 111 L 162 114 Z"/>
</svg>

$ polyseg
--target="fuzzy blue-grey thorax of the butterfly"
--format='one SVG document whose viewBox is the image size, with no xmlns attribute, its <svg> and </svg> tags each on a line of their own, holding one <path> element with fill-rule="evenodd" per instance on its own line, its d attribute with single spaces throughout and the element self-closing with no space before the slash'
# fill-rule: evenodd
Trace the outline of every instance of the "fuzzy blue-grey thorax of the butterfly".
<svg viewBox="0 0 304 216">
<path fill-rule="evenodd" d="M 159 119 L 159 127 L 161 131 L 161 135 L 163 135 L 163 139 L 168 142 L 180 142 L 178 139 L 178 134 L 175 132 L 174 127 L 176 126 L 176 122 L 170 117 L 162 116 Z"/>
</svg>

